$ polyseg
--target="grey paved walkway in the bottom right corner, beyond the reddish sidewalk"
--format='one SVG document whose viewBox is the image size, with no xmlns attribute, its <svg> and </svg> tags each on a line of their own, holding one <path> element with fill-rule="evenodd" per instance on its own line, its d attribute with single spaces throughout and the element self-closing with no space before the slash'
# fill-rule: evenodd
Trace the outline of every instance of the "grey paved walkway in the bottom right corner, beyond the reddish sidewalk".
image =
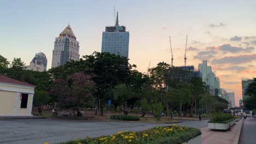
<svg viewBox="0 0 256 144">
<path fill-rule="evenodd" d="M 243 122 L 240 144 L 256 143 L 256 119 L 246 118 Z"/>
</svg>

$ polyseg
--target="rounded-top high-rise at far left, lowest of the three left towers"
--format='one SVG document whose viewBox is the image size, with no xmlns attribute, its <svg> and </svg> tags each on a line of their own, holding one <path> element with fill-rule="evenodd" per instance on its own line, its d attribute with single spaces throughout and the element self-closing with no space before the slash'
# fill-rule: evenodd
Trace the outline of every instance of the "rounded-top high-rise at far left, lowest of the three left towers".
<svg viewBox="0 0 256 144">
<path fill-rule="evenodd" d="M 43 52 L 39 52 L 34 56 L 30 65 L 27 65 L 28 70 L 33 71 L 46 71 L 47 68 L 47 58 Z"/>
</svg>

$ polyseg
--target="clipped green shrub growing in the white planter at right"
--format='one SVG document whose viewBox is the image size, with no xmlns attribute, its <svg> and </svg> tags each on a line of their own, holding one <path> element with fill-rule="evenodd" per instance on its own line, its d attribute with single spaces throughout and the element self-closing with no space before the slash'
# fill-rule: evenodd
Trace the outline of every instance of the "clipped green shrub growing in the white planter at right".
<svg viewBox="0 0 256 144">
<path fill-rule="evenodd" d="M 213 113 L 210 119 L 210 123 L 228 123 L 234 120 L 234 116 L 229 113 Z"/>
</svg>

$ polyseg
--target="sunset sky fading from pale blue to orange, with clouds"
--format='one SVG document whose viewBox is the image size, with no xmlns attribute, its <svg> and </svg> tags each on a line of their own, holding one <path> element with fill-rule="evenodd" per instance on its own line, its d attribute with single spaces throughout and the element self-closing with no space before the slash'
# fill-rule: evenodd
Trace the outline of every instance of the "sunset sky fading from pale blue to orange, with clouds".
<svg viewBox="0 0 256 144">
<path fill-rule="evenodd" d="M 27 65 L 45 53 L 48 69 L 55 38 L 70 23 L 80 43 L 80 56 L 101 51 L 102 32 L 114 22 L 130 32 L 129 58 L 142 73 L 159 62 L 187 65 L 207 60 L 220 87 L 242 98 L 242 79 L 256 77 L 256 1 L 1 1 L 0 55 Z"/>
</svg>

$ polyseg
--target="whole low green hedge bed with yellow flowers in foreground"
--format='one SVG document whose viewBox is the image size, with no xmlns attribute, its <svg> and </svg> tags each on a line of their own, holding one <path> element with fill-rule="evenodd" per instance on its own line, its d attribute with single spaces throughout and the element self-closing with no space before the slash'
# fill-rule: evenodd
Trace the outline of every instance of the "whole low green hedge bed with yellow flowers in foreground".
<svg viewBox="0 0 256 144">
<path fill-rule="evenodd" d="M 117 134 L 110 136 L 87 137 L 84 140 L 73 140 L 58 144 L 168 144 L 187 142 L 199 135 L 201 135 L 199 129 L 173 124 L 167 127 L 155 127 L 143 131 L 119 131 Z"/>
</svg>

